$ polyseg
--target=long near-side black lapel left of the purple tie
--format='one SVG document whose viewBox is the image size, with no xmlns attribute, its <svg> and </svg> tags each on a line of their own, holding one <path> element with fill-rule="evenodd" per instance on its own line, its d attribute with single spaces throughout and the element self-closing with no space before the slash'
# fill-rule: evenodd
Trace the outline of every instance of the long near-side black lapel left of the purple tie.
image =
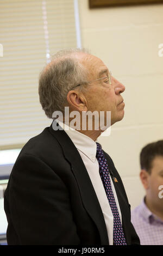
<svg viewBox="0 0 163 256">
<path fill-rule="evenodd" d="M 87 173 L 77 148 L 64 130 L 54 131 L 51 125 L 49 131 L 57 139 L 64 152 L 65 158 L 71 164 L 72 172 L 78 183 L 84 208 L 98 228 L 102 245 L 109 245 L 108 233 L 101 206 L 99 205 L 89 174 Z"/>
</svg>

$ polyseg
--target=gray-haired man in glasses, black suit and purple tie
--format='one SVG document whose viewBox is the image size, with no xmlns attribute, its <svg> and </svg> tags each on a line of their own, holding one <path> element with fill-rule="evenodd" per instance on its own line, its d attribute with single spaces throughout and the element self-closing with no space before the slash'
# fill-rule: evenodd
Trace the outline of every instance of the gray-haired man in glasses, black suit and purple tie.
<svg viewBox="0 0 163 256">
<path fill-rule="evenodd" d="M 43 69 L 40 102 L 55 120 L 24 145 L 12 169 L 4 198 L 9 245 L 140 244 L 120 175 L 97 143 L 104 130 L 95 119 L 83 129 L 82 117 L 79 129 L 70 125 L 73 111 L 104 111 L 103 123 L 110 111 L 110 124 L 120 121 L 124 89 L 84 50 L 61 51 Z"/>
</svg>

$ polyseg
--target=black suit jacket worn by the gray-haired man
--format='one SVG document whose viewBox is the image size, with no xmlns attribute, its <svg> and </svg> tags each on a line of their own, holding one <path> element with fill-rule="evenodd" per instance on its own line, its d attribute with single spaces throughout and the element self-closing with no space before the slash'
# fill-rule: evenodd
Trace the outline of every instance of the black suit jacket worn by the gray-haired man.
<svg viewBox="0 0 163 256">
<path fill-rule="evenodd" d="M 128 245 L 139 245 L 130 205 L 108 154 Z M 52 125 L 30 139 L 4 194 L 9 245 L 109 245 L 106 225 L 82 158 L 64 130 Z"/>
</svg>

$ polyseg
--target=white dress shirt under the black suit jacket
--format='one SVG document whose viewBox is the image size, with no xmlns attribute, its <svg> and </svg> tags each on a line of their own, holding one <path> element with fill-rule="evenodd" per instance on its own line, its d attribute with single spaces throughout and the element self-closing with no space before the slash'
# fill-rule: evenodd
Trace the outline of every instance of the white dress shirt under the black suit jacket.
<svg viewBox="0 0 163 256">
<path fill-rule="evenodd" d="M 70 137 L 70 139 L 74 143 L 75 147 L 78 149 L 80 156 L 82 157 L 82 160 L 90 176 L 93 188 L 96 192 L 96 196 L 98 198 L 99 204 L 103 212 L 106 229 L 108 232 L 109 245 L 112 245 L 114 217 L 112 215 L 112 211 L 108 202 L 108 198 L 105 193 L 103 182 L 99 174 L 99 164 L 96 159 L 96 149 L 97 149 L 96 142 L 97 141 L 96 142 L 93 141 L 93 139 L 91 139 L 90 137 L 84 135 L 81 132 L 78 132 L 77 130 L 72 129 L 72 127 L 67 126 L 66 124 L 62 123 L 58 119 L 56 119 L 55 121 L 57 121 L 59 125 L 62 127 L 62 129 L 65 130 L 67 135 Z M 111 177 L 110 177 L 110 181 L 111 181 L 112 192 L 114 193 L 117 209 L 120 214 L 120 219 L 122 223 L 120 205 L 118 204 L 116 191 L 115 191 L 114 184 L 112 182 Z"/>
</svg>

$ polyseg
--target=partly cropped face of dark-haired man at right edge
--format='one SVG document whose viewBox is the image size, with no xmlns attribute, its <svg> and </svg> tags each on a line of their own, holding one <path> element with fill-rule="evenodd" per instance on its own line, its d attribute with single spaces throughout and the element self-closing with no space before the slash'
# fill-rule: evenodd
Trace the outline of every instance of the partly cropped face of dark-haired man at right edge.
<svg viewBox="0 0 163 256">
<path fill-rule="evenodd" d="M 163 156 L 156 156 L 152 161 L 151 174 L 148 175 L 147 193 L 152 203 L 163 211 L 163 198 L 159 198 L 161 185 L 163 185 Z"/>
</svg>

